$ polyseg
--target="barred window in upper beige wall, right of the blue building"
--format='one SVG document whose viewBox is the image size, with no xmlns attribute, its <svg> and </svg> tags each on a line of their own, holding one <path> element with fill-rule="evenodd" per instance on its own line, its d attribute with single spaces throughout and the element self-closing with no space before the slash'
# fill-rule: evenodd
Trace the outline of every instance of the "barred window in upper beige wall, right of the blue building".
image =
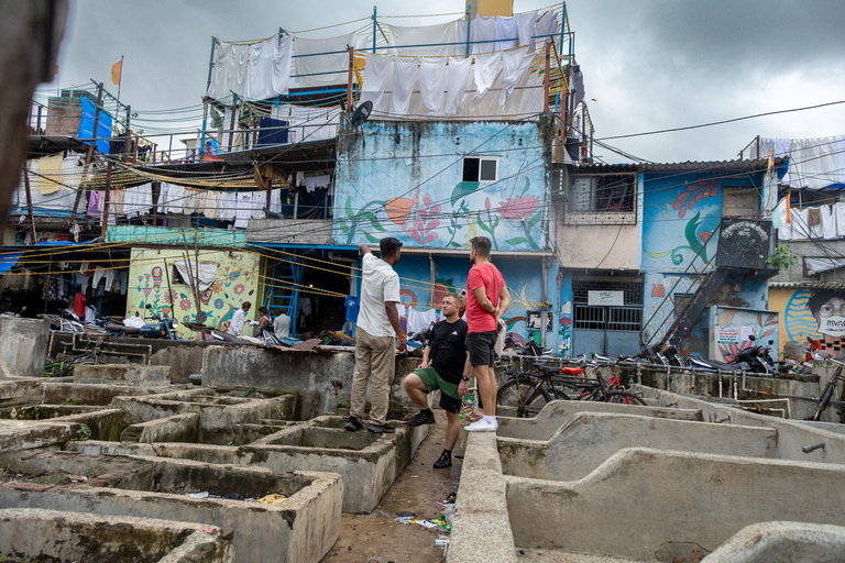
<svg viewBox="0 0 845 563">
<path fill-rule="evenodd" d="M 572 176 L 566 222 L 636 224 L 636 174 Z"/>
</svg>

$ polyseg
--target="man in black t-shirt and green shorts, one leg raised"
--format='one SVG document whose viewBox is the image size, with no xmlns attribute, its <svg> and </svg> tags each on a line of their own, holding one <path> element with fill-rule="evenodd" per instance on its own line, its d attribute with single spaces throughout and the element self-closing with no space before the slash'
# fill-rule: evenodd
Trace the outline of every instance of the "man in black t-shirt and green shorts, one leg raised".
<svg viewBox="0 0 845 563">
<path fill-rule="evenodd" d="M 443 297 L 441 311 L 446 320 L 435 324 L 431 338 L 422 352 L 422 363 L 405 377 L 405 391 L 419 407 L 408 421 L 409 427 L 434 424 L 435 415 L 428 408 L 426 395 L 440 389 L 440 408 L 446 410 L 446 449 L 435 462 L 435 468 L 452 465 L 452 449 L 461 432 L 459 412 L 461 397 L 467 396 L 472 366 L 467 352 L 467 321 L 461 319 L 463 301 L 454 295 Z"/>
</svg>

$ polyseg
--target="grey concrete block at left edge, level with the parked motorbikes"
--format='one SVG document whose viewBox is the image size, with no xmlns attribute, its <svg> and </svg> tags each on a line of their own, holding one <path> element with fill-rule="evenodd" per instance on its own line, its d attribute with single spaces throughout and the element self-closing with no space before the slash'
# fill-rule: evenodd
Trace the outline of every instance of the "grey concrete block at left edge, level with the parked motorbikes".
<svg viewBox="0 0 845 563">
<path fill-rule="evenodd" d="M 0 317 L 0 378 L 43 377 L 50 321 Z"/>
</svg>

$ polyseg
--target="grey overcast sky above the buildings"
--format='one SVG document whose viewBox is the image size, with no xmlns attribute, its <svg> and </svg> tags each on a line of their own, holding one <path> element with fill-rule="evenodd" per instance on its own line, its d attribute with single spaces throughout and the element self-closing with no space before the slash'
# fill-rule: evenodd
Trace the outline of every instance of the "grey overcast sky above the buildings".
<svg viewBox="0 0 845 563">
<path fill-rule="evenodd" d="M 109 73 L 123 55 L 121 101 L 133 110 L 197 106 L 212 36 L 248 40 L 279 26 L 321 27 L 371 16 L 373 3 L 72 0 L 59 52 L 61 85 L 92 78 L 117 95 Z M 461 0 L 375 3 L 380 15 L 464 10 Z M 515 0 L 514 10 L 546 5 Z M 567 9 L 599 139 L 845 100 L 843 0 L 570 0 Z M 389 22 L 420 25 L 456 18 Z M 307 36 L 339 35 L 365 23 Z M 183 117 L 198 114 L 200 109 Z M 757 134 L 845 134 L 845 104 L 608 143 L 656 162 L 714 161 L 735 158 Z M 596 154 L 625 162 L 605 148 L 596 147 Z"/>
</svg>

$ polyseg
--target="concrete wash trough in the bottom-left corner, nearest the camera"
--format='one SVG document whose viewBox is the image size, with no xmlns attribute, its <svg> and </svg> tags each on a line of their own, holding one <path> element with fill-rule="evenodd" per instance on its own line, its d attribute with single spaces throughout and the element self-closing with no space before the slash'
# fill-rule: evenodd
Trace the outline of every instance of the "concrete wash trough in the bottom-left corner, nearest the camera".
<svg viewBox="0 0 845 563">
<path fill-rule="evenodd" d="M 96 538 L 96 540 L 94 540 Z M 220 528 L 43 509 L 0 510 L 3 561 L 229 563 Z"/>
</svg>

